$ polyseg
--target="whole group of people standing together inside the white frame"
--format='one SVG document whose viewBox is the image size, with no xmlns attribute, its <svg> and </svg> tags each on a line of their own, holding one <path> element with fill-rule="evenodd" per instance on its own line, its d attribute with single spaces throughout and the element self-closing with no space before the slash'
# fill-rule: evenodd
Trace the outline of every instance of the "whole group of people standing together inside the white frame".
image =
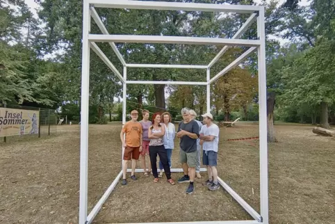
<svg viewBox="0 0 335 224">
<path fill-rule="evenodd" d="M 126 171 L 128 163 L 131 161 L 131 179 L 136 180 L 135 168 L 138 159 L 141 159 L 144 175 L 154 176 L 154 182 L 158 182 L 158 177 L 163 177 L 163 171 L 172 185 L 175 184 L 171 178 L 171 156 L 174 149 L 174 138 L 180 138 L 179 161 L 183 167 L 183 177 L 177 182 L 189 182 L 186 193 L 193 193 L 195 177 L 200 175 L 201 147 L 203 151 L 202 163 L 207 167 L 209 179 L 206 186 L 209 190 L 215 191 L 220 188 L 218 184 L 218 171 L 216 169 L 218 161 L 218 138 L 219 127 L 213 123 L 213 115 L 205 113 L 202 115 L 203 123 L 195 118 L 195 111 L 181 109 L 183 121 L 179 123 L 176 132 L 172 124 L 171 115 L 168 112 L 154 113 L 152 121 L 149 120 L 149 111 L 142 110 L 143 119 L 138 122 L 138 111 L 131 111 L 131 120 L 124 124 L 120 133 L 123 155 L 123 178 L 122 185 L 126 185 Z M 157 155 L 159 161 L 159 174 L 157 169 Z M 148 169 L 145 158 L 149 157 Z"/>
</svg>

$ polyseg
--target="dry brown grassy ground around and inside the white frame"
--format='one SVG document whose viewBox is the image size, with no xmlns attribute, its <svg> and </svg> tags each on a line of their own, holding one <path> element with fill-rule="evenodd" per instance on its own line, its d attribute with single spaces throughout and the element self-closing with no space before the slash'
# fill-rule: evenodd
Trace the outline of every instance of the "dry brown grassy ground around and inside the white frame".
<svg viewBox="0 0 335 224">
<path fill-rule="evenodd" d="M 121 169 L 120 122 L 90 125 L 88 212 Z M 335 141 L 316 136 L 309 125 L 275 125 L 269 144 L 270 223 L 335 223 Z M 0 143 L 0 223 L 78 223 L 79 126 L 58 127 L 55 136 Z M 219 176 L 259 211 L 258 125 L 239 122 L 220 131 Z M 178 150 L 172 167 L 180 168 Z M 138 163 L 140 168 L 140 163 Z M 181 173 L 174 173 L 177 179 Z M 138 173 L 117 184 L 94 223 L 245 220 L 251 217 L 224 190 L 210 192 L 197 179 L 158 184 Z"/>
</svg>

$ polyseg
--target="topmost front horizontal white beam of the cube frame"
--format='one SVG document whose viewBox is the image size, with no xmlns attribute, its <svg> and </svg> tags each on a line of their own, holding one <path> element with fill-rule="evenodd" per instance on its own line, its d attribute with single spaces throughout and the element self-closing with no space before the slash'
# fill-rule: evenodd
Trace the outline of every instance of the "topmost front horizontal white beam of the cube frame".
<svg viewBox="0 0 335 224">
<path fill-rule="evenodd" d="M 224 5 L 207 3 L 181 3 L 167 1 L 124 1 L 124 0 L 88 0 L 98 8 L 129 8 L 151 10 L 184 10 L 226 13 L 254 13 L 259 6 Z"/>
</svg>

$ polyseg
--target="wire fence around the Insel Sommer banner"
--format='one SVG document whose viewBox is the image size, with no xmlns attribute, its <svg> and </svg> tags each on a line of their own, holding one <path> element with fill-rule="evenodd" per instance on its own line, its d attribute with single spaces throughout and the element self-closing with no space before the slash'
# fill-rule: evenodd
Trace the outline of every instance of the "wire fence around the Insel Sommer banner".
<svg viewBox="0 0 335 224">
<path fill-rule="evenodd" d="M 32 106 L 22 106 L 22 105 L 1 104 L 0 103 L 0 109 L 4 109 L 4 108 L 36 111 L 36 113 L 38 113 L 39 116 L 38 116 L 38 131 L 36 134 L 5 136 L 5 137 L 1 137 L 2 142 L 5 142 L 5 143 L 8 141 L 13 142 L 13 141 L 18 141 L 22 139 L 40 138 L 41 136 L 51 136 L 51 135 L 57 134 L 58 115 L 55 109 L 44 109 L 44 108 L 38 108 L 38 107 L 32 107 Z M 1 139 L 0 139 L 0 142 L 1 142 Z"/>
</svg>

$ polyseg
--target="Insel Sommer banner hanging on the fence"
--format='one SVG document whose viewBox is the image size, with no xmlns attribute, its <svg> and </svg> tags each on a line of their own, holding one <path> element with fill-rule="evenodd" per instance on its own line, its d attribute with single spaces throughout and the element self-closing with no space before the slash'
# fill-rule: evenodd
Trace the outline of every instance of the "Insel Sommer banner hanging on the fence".
<svg viewBox="0 0 335 224">
<path fill-rule="evenodd" d="M 0 107 L 0 137 L 38 134 L 39 111 Z"/>
</svg>

